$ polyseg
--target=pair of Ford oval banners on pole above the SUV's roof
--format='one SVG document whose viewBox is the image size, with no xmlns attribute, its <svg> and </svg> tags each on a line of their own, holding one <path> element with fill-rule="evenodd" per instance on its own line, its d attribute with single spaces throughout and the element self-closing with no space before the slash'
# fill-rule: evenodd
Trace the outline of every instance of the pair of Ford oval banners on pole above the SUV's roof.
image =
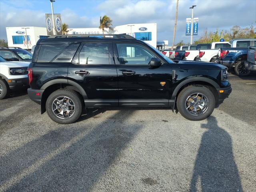
<svg viewBox="0 0 256 192">
<path fill-rule="evenodd" d="M 62 35 L 62 23 L 60 14 L 54 14 L 54 22 L 52 21 L 52 14 L 45 14 L 47 35 L 53 35 L 55 25 L 55 31 L 57 35 Z"/>
</svg>

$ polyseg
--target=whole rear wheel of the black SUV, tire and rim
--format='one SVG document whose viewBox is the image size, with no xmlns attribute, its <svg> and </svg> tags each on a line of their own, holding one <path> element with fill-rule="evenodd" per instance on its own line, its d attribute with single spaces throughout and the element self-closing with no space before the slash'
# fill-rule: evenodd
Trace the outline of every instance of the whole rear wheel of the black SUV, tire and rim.
<svg viewBox="0 0 256 192">
<path fill-rule="evenodd" d="M 61 106 L 61 108 L 56 108 L 53 111 L 54 106 L 60 107 L 59 105 L 57 106 L 56 104 L 53 103 L 53 102 L 55 102 L 55 103 L 58 102 L 56 100 L 57 98 L 63 98 L 63 102 L 61 101 L 62 104 L 60 103 L 60 105 L 62 105 L 62 106 Z M 65 100 L 65 98 L 66 98 L 66 100 Z M 74 105 L 74 107 L 66 106 L 65 103 L 72 104 L 72 105 Z M 66 109 L 63 109 L 63 107 L 65 107 Z M 59 123 L 59 124 L 70 124 L 70 123 L 76 122 L 76 120 L 78 120 L 78 118 L 82 114 L 82 108 L 83 108 L 82 99 L 80 98 L 79 94 L 73 90 L 68 90 L 68 89 L 56 90 L 56 91 L 52 92 L 52 94 L 50 94 L 50 96 L 46 100 L 46 112 L 47 112 L 48 116 L 54 122 Z M 62 114 L 64 114 L 63 117 L 62 118 L 59 117 L 59 116 L 61 116 L 61 114 L 59 116 L 56 116 L 56 114 L 58 114 L 58 112 L 61 112 L 62 110 L 63 110 Z M 70 110 L 70 111 L 73 110 L 74 112 L 68 113 L 67 110 Z M 67 115 L 68 115 L 68 117 L 67 117 Z M 69 117 L 69 115 L 70 115 L 70 117 Z"/>
</svg>

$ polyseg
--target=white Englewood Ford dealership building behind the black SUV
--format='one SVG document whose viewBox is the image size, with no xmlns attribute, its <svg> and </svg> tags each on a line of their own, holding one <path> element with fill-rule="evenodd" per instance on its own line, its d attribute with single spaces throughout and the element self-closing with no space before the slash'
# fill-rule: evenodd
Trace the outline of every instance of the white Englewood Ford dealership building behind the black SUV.
<svg viewBox="0 0 256 192">
<path fill-rule="evenodd" d="M 69 28 L 68 34 L 102 34 L 99 28 Z M 109 33 L 108 29 L 104 33 Z M 157 47 L 156 23 L 126 24 L 116 26 L 111 34 L 129 34 L 136 39 L 143 40 Z M 47 38 L 46 27 L 6 27 L 9 47 L 31 49 L 41 38 Z M 162 46 L 162 44 L 161 44 Z"/>
</svg>

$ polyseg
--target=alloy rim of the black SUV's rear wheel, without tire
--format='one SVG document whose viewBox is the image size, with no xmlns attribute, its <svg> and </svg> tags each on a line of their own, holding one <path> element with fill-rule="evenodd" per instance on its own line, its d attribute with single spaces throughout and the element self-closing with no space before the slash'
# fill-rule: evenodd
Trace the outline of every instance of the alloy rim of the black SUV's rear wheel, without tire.
<svg viewBox="0 0 256 192">
<path fill-rule="evenodd" d="M 69 97 L 60 96 L 52 102 L 52 112 L 58 118 L 70 118 L 74 114 L 75 110 L 75 104 Z"/>
</svg>

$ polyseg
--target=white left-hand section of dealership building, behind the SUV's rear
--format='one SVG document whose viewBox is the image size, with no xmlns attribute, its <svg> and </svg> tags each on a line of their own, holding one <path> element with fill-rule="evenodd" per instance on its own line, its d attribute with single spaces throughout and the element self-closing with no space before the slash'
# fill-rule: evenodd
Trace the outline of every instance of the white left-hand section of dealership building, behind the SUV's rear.
<svg viewBox="0 0 256 192">
<path fill-rule="evenodd" d="M 25 29 L 22 28 L 29 28 L 27 30 L 27 36 L 29 36 L 28 39 L 28 46 L 25 39 Z M 32 26 L 26 26 L 26 27 L 6 27 L 6 34 L 7 34 L 7 40 L 8 40 L 8 46 L 9 47 L 20 47 L 23 49 L 29 49 L 32 48 L 33 45 L 36 44 L 36 42 L 39 40 L 39 36 L 47 36 L 47 31 L 45 27 L 32 27 Z M 15 36 L 16 40 L 19 39 L 19 43 L 15 44 L 15 40 L 13 38 Z M 17 38 L 17 36 L 19 36 Z M 22 37 L 23 36 L 23 37 Z M 23 40 L 22 40 L 23 39 Z"/>
</svg>

